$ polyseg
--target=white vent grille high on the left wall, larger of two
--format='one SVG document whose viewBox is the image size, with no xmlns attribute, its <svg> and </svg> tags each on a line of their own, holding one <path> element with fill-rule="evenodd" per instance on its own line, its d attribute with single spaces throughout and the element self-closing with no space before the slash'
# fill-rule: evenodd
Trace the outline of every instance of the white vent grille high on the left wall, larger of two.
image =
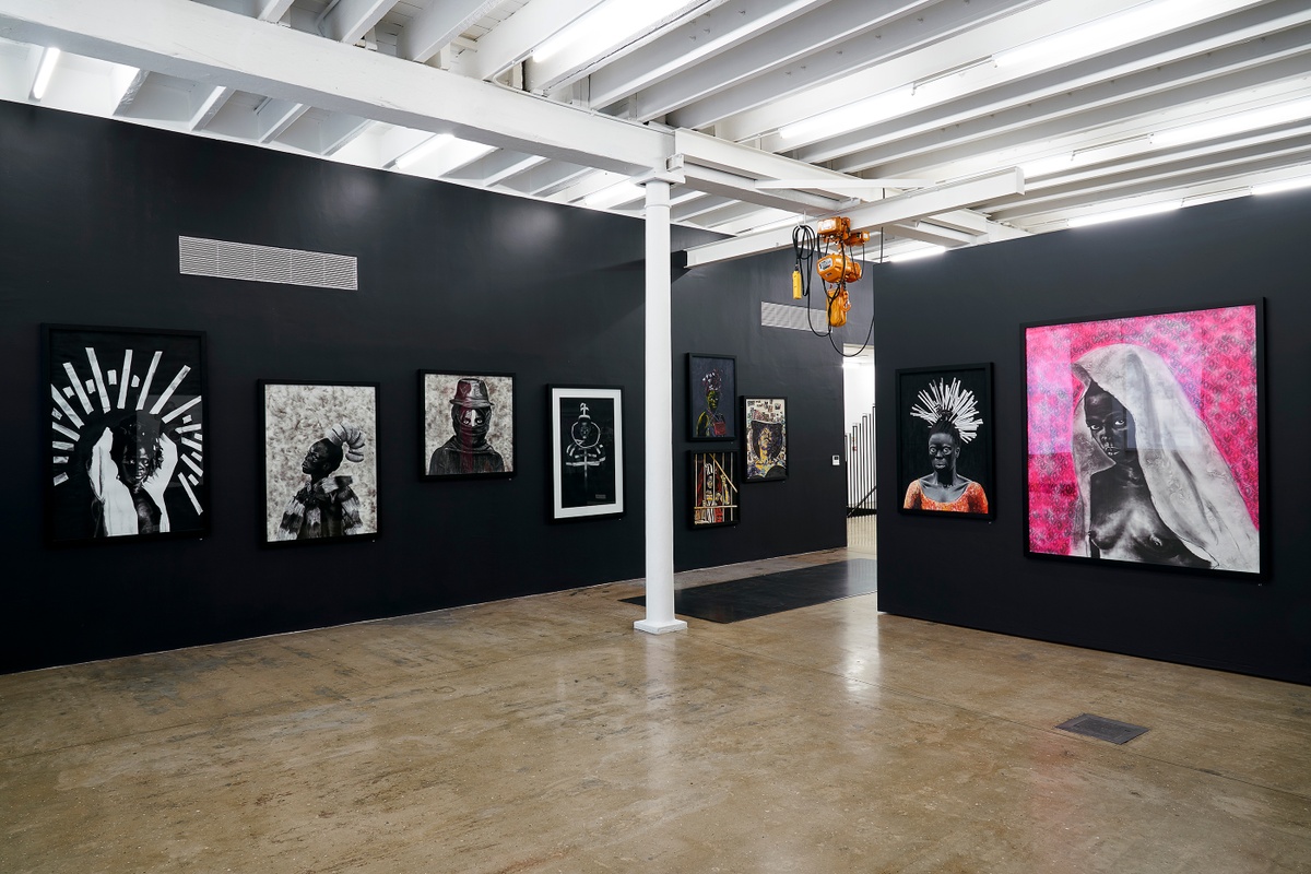
<svg viewBox="0 0 1311 874">
<path fill-rule="evenodd" d="M 288 286 L 359 290 L 354 256 L 178 237 L 178 266 L 193 276 L 279 282 Z"/>
</svg>

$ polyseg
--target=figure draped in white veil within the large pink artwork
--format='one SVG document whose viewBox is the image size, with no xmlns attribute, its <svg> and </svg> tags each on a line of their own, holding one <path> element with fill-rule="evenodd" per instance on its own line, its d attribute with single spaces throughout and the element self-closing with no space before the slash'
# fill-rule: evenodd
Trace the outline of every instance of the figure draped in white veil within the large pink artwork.
<svg viewBox="0 0 1311 874">
<path fill-rule="evenodd" d="M 1074 363 L 1071 453 L 1092 558 L 1260 570 L 1260 537 L 1228 464 L 1169 367 L 1114 343 Z"/>
</svg>

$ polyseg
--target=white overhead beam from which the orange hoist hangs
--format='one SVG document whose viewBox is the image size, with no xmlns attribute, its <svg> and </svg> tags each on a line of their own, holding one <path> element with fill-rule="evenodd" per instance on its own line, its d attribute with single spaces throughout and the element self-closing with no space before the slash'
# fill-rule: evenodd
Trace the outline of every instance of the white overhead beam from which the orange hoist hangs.
<svg viewBox="0 0 1311 874">
<path fill-rule="evenodd" d="M 933 189 L 901 194 L 886 200 L 843 211 L 856 229 L 877 228 L 886 224 L 914 221 L 937 212 L 995 200 L 1024 193 L 1024 174 L 1019 169 L 998 170 L 964 182 L 950 182 Z M 809 223 L 813 227 L 813 223 Z M 732 261 L 763 252 L 785 249 L 792 245 L 792 228 L 777 228 L 732 240 L 721 240 L 687 250 L 687 266 L 697 267 L 717 261 Z"/>
</svg>

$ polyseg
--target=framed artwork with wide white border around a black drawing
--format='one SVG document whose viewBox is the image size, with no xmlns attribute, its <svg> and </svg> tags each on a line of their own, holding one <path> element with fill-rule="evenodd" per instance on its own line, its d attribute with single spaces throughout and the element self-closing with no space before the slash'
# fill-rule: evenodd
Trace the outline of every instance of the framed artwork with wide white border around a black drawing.
<svg viewBox="0 0 1311 874">
<path fill-rule="evenodd" d="M 551 385 L 551 518 L 624 514 L 624 390 Z"/>
</svg>

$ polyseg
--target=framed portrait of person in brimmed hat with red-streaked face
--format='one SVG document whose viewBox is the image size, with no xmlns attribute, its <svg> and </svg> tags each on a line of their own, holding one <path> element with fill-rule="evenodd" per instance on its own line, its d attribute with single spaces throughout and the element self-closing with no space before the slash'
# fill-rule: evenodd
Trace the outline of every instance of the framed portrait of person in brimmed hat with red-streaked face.
<svg viewBox="0 0 1311 874">
<path fill-rule="evenodd" d="M 420 371 L 420 478 L 514 476 L 514 373 Z"/>
</svg>

